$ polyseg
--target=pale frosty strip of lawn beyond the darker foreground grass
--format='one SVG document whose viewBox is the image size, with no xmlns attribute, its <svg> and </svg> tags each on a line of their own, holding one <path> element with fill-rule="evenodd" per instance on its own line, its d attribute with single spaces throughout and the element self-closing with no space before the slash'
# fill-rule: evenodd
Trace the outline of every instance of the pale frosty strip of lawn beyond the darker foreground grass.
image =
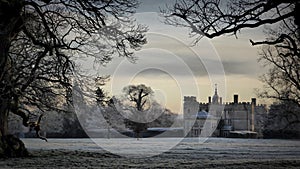
<svg viewBox="0 0 300 169">
<path fill-rule="evenodd" d="M 117 155 L 138 155 L 138 157 L 164 154 L 190 154 L 232 158 L 299 158 L 300 140 L 283 139 L 230 139 L 230 138 L 150 138 L 136 140 L 121 139 L 23 139 L 26 147 L 32 150 L 79 150 L 105 152 Z"/>
</svg>

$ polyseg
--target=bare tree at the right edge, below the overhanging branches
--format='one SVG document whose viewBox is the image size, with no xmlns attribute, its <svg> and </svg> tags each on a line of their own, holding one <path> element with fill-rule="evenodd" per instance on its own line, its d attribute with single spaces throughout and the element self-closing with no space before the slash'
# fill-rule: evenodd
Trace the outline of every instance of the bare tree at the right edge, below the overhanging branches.
<svg viewBox="0 0 300 169">
<path fill-rule="evenodd" d="M 298 26 L 286 19 L 277 29 L 268 30 L 268 41 L 262 47 L 259 61 L 269 67 L 261 80 L 265 88 L 259 96 L 300 105 L 300 48 Z"/>
</svg>

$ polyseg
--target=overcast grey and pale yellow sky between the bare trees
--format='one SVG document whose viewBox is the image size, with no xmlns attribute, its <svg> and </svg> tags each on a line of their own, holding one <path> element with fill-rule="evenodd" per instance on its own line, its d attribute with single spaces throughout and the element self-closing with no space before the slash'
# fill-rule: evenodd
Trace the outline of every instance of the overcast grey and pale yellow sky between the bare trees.
<svg viewBox="0 0 300 169">
<path fill-rule="evenodd" d="M 178 113 L 183 96 L 197 96 L 198 101 L 207 102 L 214 94 L 214 84 L 218 84 L 224 102 L 232 102 L 233 94 L 246 102 L 256 97 L 254 89 L 262 87 L 258 77 L 264 69 L 257 63 L 259 49 L 252 47 L 249 39 L 263 39 L 262 31 L 243 30 L 238 39 L 203 38 L 192 46 L 188 29 L 165 25 L 159 15 L 159 7 L 173 2 L 142 1 L 135 17 L 148 26 L 148 43 L 136 53 L 136 64 L 118 58 L 101 70 L 112 75 L 106 89 L 119 95 L 124 86 L 143 83 L 154 89 L 161 104 Z"/>
</svg>

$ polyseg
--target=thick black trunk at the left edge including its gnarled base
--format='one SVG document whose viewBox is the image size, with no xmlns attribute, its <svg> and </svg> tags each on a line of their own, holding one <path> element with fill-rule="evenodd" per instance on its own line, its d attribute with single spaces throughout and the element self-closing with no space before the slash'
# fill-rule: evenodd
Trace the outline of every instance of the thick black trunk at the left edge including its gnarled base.
<svg viewBox="0 0 300 169">
<path fill-rule="evenodd" d="M 14 91 L 9 48 L 23 25 L 22 7 L 22 0 L 0 1 L 0 157 L 28 156 L 24 143 L 8 135 L 8 114 Z"/>
</svg>

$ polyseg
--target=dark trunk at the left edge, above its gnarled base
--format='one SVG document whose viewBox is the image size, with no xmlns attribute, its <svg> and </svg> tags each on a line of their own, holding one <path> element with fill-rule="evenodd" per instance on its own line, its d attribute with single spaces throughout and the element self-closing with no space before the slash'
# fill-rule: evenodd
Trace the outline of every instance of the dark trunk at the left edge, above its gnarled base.
<svg viewBox="0 0 300 169">
<path fill-rule="evenodd" d="M 8 112 L 12 99 L 11 60 L 9 49 L 11 41 L 18 35 L 23 25 L 21 19 L 23 1 L 0 1 L 0 131 L 7 134 Z"/>
</svg>

